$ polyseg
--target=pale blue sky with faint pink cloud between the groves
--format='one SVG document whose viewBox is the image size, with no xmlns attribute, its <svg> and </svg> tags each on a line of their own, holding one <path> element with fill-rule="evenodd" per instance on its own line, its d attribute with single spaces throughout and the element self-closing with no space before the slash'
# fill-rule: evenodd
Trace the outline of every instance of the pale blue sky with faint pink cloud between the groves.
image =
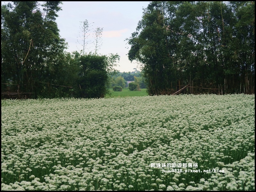
<svg viewBox="0 0 256 192">
<path fill-rule="evenodd" d="M 1 2 L 3 4 L 3 2 Z M 102 1 L 102 2 L 81 2 L 64 1 L 61 5 L 62 11 L 58 12 L 56 19 L 60 29 L 60 36 L 68 42 L 68 52 L 79 51 L 83 47 L 77 40 L 80 21 L 88 20 L 92 23 L 92 30 L 96 27 L 103 27 L 102 46 L 99 54 L 108 55 L 110 53 L 120 55 L 120 67 L 117 70 L 133 71 L 133 68 L 139 70 L 137 63 L 131 63 L 128 60 L 127 53 L 129 47 L 125 41 L 126 38 L 135 32 L 139 20 L 141 20 L 143 10 L 149 4 L 149 1 Z M 92 36 L 92 34 L 91 34 Z M 94 50 L 93 37 L 89 37 L 88 52 Z M 82 43 L 82 41 L 80 41 Z"/>
</svg>

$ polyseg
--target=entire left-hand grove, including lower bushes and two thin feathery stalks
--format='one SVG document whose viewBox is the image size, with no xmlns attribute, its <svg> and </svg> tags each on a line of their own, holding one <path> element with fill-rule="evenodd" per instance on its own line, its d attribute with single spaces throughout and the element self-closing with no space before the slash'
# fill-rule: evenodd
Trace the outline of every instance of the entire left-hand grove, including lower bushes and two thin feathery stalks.
<svg viewBox="0 0 256 192">
<path fill-rule="evenodd" d="M 15 1 L 1 6 L 2 98 L 100 98 L 108 93 L 109 73 L 119 55 L 97 54 L 99 27 L 93 54 L 85 52 L 85 36 L 80 53 L 66 53 L 55 22 L 60 4 Z"/>
</svg>

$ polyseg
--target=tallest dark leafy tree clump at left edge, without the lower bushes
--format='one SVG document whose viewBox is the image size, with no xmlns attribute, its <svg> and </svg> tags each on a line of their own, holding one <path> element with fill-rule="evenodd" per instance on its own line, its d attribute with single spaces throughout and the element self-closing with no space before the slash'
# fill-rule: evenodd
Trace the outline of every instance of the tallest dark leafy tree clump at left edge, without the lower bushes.
<svg viewBox="0 0 256 192">
<path fill-rule="evenodd" d="M 1 7 L 1 80 L 18 85 L 18 92 L 40 96 L 53 81 L 66 47 L 55 22 L 61 2 L 15 1 Z"/>
</svg>

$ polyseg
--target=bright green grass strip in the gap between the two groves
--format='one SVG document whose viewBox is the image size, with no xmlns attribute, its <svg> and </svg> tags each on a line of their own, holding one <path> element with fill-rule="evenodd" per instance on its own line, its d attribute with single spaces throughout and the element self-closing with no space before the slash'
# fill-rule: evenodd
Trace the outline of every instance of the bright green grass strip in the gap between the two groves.
<svg viewBox="0 0 256 192">
<path fill-rule="evenodd" d="M 122 91 L 111 91 L 111 95 L 107 95 L 105 98 L 116 98 L 116 97 L 134 97 L 134 96 L 147 96 L 147 89 L 140 89 L 140 91 L 130 91 L 128 88 L 124 88 Z"/>
</svg>

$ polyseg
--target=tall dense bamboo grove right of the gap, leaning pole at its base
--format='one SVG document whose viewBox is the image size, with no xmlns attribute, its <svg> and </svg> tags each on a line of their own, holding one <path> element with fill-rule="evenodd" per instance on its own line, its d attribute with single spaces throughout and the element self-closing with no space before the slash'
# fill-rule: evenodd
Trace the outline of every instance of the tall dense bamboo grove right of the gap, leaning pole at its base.
<svg viewBox="0 0 256 192">
<path fill-rule="evenodd" d="M 255 2 L 151 2 L 127 39 L 150 95 L 254 93 Z"/>
</svg>

